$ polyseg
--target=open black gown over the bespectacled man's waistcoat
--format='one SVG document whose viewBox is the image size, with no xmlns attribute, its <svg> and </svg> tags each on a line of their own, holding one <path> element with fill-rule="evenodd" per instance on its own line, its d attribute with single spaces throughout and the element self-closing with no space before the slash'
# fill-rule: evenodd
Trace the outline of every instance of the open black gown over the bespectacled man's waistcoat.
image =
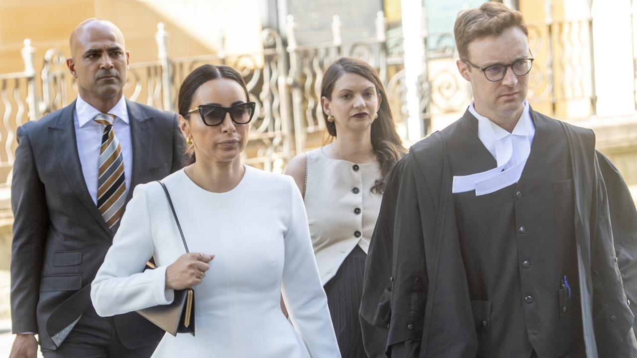
<svg viewBox="0 0 637 358">
<path fill-rule="evenodd" d="M 531 117 L 554 121 L 533 110 Z M 413 145 L 385 185 L 360 310 L 369 357 L 477 354 L 447 162 L 454 148 L 445 145 L 464 119 Z M 630 309 L 637 304 L 637 212 L 617 169 L 594 149 L 593 132 L 562 125 L 571 148 L 587 357 L 617 357 L 637 349 Z"/>
</svg>

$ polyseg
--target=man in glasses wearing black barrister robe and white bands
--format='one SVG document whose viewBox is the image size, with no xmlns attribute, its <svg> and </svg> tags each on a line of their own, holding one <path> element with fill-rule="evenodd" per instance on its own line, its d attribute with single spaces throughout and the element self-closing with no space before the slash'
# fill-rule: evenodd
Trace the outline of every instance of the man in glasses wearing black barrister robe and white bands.
<svg viewBox="0 0 637 358">
<path fill-rule="evenodd" d="M 361 303 L 369 357 L 637 357 L 637 213 L 592 131 L 533 111 L 519 11 L 462 12 L 474 102 L 390 173 Z"/>
</svg>

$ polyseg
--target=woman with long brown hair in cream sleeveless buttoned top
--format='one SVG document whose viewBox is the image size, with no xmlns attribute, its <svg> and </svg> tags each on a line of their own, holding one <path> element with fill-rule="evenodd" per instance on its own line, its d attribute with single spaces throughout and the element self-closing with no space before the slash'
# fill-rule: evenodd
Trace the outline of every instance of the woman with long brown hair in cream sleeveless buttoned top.
<svg viewBox="0 0 637 358">
<path fill-rule="evenodd" d="M 286 173 L 304 194 L 321 283 L 341 356 L 367 357 L 358 310 L 365 259 L 380 210 L 385 176 L 404 155 L 376 71 L 341 58 L 321 86 L 333 142 L 297 155 Z"/>
</svg>

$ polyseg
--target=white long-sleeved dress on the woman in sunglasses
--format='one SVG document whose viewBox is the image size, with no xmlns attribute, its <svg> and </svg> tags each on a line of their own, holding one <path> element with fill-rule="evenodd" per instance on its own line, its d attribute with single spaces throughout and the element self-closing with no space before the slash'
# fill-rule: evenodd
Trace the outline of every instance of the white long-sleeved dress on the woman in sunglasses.
<svg viewBox="0 0 637 358">
<path fill-rule="evenodd" d="M 195 336 L 166 333 L 153 357 L 340 357 L 299 190 L 290 176 L 245 168 L 224 193 L 183 169 L 163 180 L 190 252 L 216 257 L 194 287 Z M 170 303 L 166 267 L 184 253 L 159 183 L 138 185 L 92 283 L 97 313 Z M 142 273 L 151 256 L 157 269 Z"/>
</svg>

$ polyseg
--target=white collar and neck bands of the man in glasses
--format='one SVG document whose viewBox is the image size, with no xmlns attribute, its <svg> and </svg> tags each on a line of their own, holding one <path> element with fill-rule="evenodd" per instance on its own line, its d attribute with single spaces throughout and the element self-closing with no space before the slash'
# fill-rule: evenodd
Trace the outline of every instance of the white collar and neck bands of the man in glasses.
<svg viewBox="0 0 637 358">
<path fill-rule="evenodd" d="M 473 103 L 469 105 L 469 112 L 478 119 L 478 138 L 496 159 L 497 165 L 482 173 L 454 176 L 452 192 L 475 190 L 476 196 L 480 196 L 517 183 L 531 154 L 535 135 L 529 102 L 524 101 L 524 110 L 512 132 L 478 114 Z"/>
</svg>

